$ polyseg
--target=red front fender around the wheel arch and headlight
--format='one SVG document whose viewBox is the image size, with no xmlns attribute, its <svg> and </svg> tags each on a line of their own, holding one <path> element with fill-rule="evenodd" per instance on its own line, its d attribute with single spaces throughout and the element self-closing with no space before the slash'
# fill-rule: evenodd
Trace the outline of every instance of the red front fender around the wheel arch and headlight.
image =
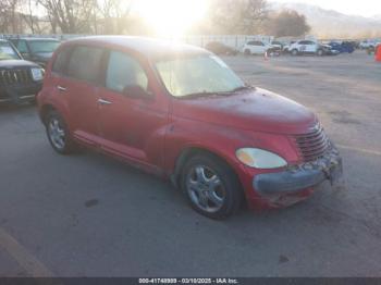
<svg viewBox="0 0 381 285">
<path fill-rule="evenodd" d="M 177 117 L 169 126 L 164 146 L 164 165 L 169 174 L 176 172 L 176 162 L 188 149 L 201 149 L 223 159 L 237 174 L 244 188 L 246 200 L 251 203 L 261 198 L 253 189 L 253 177 L 260 173 L 271 173 L 275 170 L 257 170 L 245 166 L 236 157 L 235 151 L 244 147 L 257 147 L 275 152 L 288 163 L 298 161 L 297 152 L 287 136 L 269 133 L 242 131 L 199 121 Z M 260 206 L 258 206 L 260 207 Z"/>
</svg>

